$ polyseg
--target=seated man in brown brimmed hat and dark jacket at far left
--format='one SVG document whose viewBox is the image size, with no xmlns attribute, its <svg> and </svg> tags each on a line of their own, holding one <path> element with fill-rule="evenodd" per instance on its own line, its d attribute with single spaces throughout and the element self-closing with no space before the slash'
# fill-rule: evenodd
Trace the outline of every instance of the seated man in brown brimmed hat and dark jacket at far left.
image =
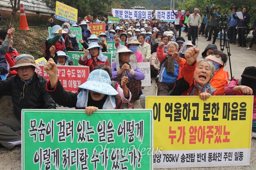
<svg viewBox="0 0 256 170">
<path fill-rule="evenodd" d="M 39 66 L 34 57 L 21 54 L 10 70 L 17 75 L 0 80 L 0 96 L 12 96 L 14 118 L 0 119 L 0 144 L 11 150 L 9 142 L 20 141 L 22 109 L 55 109 L 56 104 L 46 90 L 47 80 L 34 72 Z"/>
</svg>

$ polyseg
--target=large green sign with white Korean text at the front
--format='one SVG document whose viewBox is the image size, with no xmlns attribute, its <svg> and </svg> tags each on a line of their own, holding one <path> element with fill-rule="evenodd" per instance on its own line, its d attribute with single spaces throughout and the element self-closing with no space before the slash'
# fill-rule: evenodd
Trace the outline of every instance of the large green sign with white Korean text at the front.
<svg viewBox="0 0 256 170">
<path fill-rule="evenodd" d="M 153 170 L 153 110 L 23 109 L 22 169 Z"/>
</svg>

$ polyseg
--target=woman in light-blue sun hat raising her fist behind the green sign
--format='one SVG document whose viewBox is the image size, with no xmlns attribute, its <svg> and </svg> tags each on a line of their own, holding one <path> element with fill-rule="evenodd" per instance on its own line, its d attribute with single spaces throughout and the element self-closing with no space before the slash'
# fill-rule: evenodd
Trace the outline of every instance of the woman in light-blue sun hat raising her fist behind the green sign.
<svg viewBox="0 0 256 170">
<path fill-rule="evenodd" d="M 53 59 L 44 66 L 49 75 L 46 88 L 54 101 L 65 107 L 85 108 L 87 115 L 91 115 L 98 109 L 115 109 L 115 98 L 118 92 L 111 86 L 111 79 L 108 72 L 94 70 L 89 74 L 85 83 L 79 86 L 79 94 L 67 92 L 63 89 L 57 77 L 57 65 Z M 61 97 L 60 97 L 61 96 Z"/>
</svg>

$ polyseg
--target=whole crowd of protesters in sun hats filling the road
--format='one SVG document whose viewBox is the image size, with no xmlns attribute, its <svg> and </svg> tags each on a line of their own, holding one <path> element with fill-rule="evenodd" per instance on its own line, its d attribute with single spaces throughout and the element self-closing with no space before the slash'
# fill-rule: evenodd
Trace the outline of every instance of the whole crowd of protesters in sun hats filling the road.
<svg viewBox="0 0 256 170">
<path fill-rule="evenodd" d="M 24 108 L 55 109 L 59 104 L 85 109 L 91 115 L 98 109 L 121 109 L 123 103 L 128 104 L 128 109 L 134 109 L 133 103 L 139 99 L 145 108 L 141 86 L 145 75 L 137 66 L 138 62 L 150 63 L 158 96 L 199 96 L 205 101 L 215 95 L 254 95 L 253 136 L 256 137 L 256 67 L 245 68 L 241 79 L 228 83 L 229 74 L 224 71 L 227 55 L 215 45 L 220 9 L 207 6 L 204 11 L 194 8 L 186 10 L 185 14 L 181 10 L 177 13 L 172 10 L 175 22 L 153 17 L 151 20 L 122 19 L 113 24 L 106 17 L 94 21 L 94 17 L 88 15 L 77 24 L 65 22 L 59 26 L 49 19 L 52 29 L 45 41 L 44 56 L 48 61 L 44 66 L 49 75 L 48 82 L 34 72 L 38 66 L 33 56 L 20 55 L 13 48 L 14 29 L 0 30 L 0 95 L 12 96 L 14 107 L 14 118 L 0 120 L 0 127 L 4 129 L 0 132 L 0 144 L 12 149 L 8 142 L 20 139 L 20 112 Z M 236 43 L 238 27 L 238 46 L 245 47 L 244 30 L 249 23 L 247 8 L 243 8 L 243 19 L 237 18 L 236 7 L 231 7 L 231 10 L 229 41 Z M 99 36 L 92 34 L 88 24 L 93 22 L 105 22 L 106 32 Z M 66 92 L 57 77 L 58 65 L 74 65 L 67 51 L 79 51 L 71 27 L 81 27 L 82 39 L 79 42 L 84 55 L 79 64 L 89 66 L 90 72 L 87 82 L 79 86 L 77 93 Z M 182 27 L 187 41 L 181 36 Z M 207 41 L 214 35 L 212 44 L 202 54 L 195 47 L 200 34 L 208 38 Z M 109 41 L 115 42 L 116 48 L 112 65 L 102 53 L 107 52 L 106 42 Z M 6 131 L 12 131 L 12 134 Z"/>
</svg>

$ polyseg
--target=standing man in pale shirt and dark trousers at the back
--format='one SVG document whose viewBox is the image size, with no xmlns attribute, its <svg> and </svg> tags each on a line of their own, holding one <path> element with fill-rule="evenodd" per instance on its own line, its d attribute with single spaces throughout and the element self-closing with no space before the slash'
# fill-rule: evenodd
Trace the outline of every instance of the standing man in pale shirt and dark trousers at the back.
<svg viewBox="0 0 256 170">
<path fill-rule="evenodd" d="M 201 27 L 201 16 L 198 14 L 199 9 L 195 8 L 194 13 L 189 15 L 189 19 L 187 21 L 187 25 L 189 28 L 188 31 L 188 40 L 191 41 L 192 36 L 192 44 L 195 46 L 195 39 L 198 36 L 198 30 Z"/>
</svg>

